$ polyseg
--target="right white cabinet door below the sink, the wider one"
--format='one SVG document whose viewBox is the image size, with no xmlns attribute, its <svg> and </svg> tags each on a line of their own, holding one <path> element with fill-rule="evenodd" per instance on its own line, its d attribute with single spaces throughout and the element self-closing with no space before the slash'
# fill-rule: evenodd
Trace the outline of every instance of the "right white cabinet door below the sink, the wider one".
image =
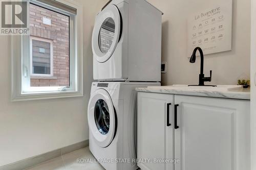
<svg viewBox="0 0 256 170">
<path fill-rule="evenodd" d="M 175 170 L 250 169 L 250 102 L 175 95 Z"/>
</svg>

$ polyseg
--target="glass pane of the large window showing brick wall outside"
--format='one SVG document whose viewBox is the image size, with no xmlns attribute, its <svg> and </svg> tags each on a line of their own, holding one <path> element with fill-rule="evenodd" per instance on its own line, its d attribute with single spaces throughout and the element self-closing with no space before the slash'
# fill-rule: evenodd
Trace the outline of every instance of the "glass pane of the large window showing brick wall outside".
<svg viewBox="0 0 256 170">
<path fill-rule="evenodd" d="M 29 20 L 30 86 L 69 87 L 70 16 L 31 3 Z"/>
</svg>

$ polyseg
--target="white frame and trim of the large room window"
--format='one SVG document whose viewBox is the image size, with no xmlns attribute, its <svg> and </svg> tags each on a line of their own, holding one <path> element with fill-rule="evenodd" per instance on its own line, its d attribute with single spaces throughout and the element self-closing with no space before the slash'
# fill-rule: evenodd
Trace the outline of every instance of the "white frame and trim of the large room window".
<svg viewBox="0 0 256 170">
<path fill-rule="evenodd" d="M 72 0 L 56 1 L 75 8 L 77 12 L 75 16 L 70 15 L 70 86 L 30 87 L 30 57 L 28 57 L 30 36 L 13 35 L 11 36 L 11 101 L 13 102 L 83 96 L 82 5 Z M 40 4 L 36 0 L 29 2 Z M 49 6 L 49 9 L 54 8 Z M 29 9 L 29 3 L 27 9 Z M 60 11 L 60 9 L 57 10 Z"/>
</svg>

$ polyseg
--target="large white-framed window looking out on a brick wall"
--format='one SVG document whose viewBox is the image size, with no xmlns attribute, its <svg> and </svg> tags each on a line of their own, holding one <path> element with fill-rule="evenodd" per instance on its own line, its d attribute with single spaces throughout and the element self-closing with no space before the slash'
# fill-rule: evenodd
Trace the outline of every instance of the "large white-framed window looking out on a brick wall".
<svg viewBox="0 0 256 170">
<path fill-rule="evenodd" d="M 81 96 L 81 5 L 71 0 L 29 2 L 30 35 L 12 37 L 13 48 L 19 49 L 12 55 L 12 100 Z"/>
</svg>

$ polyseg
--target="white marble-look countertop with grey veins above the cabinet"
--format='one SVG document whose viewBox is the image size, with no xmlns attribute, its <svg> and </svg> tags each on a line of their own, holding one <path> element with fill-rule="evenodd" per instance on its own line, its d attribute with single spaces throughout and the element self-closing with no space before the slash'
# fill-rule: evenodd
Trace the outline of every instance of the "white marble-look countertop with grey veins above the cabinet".
<svg viewBox="0 0 256 170">
<path fill-rule="evenodd" d="M 166 88 L 165 88 L 166 87 Z M 150 88 L 136 88 L 136 91 L 166 93 L 166 94 L 180 94 L 180 95 L 195 95 L 195 96 L 208 96 L 212 98 L 227 98 L 250 100 L 250 89 L 184 89 L 184 88 L 168 88 L 168 86 L 150 87 Z"/>
</svg>

